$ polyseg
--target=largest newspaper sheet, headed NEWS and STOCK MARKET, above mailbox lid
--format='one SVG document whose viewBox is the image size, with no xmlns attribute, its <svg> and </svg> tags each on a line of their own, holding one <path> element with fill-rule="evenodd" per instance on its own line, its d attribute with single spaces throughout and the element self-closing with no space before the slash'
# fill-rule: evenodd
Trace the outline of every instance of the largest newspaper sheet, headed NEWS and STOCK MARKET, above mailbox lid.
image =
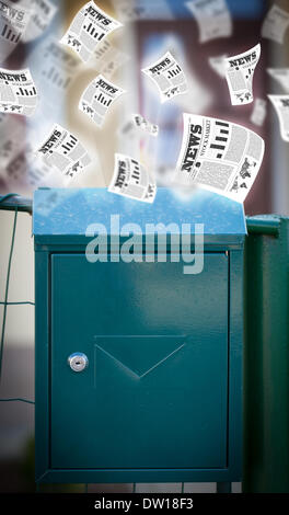
<svg viewBox="0 0 289 515">
<path fill-rule="evenodd" d="M 184 135 L 174 182 L 199 185 L 240 203 L 262 164 L 263 139 L 241 125 L 184 113 Z"/>
</svg>

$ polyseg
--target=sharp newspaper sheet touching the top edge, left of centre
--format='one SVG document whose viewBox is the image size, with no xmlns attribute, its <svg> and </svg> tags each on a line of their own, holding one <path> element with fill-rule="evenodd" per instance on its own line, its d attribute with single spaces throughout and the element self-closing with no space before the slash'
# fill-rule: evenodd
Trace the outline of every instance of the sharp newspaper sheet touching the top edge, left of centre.
<svg viewBox="0 0 289 515">
<path fill-rule="evenodd" d="M 109 16 L 93 1 L 85 3 L 74 16 L 60 43 L 68 45 L 86 62 L 96 45 L 122 23 Z"/>
</svg>

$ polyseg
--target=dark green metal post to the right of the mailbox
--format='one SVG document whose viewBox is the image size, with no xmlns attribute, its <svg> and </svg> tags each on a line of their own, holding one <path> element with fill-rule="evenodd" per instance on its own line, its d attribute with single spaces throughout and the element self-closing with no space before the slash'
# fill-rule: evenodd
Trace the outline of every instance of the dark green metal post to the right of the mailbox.
<svg viewBox="0 0 289 515">
<path fill-rule="evenodd" d="M 244 492 L 289 492 L 289 219 L 247 218 Z"/>
</svg>

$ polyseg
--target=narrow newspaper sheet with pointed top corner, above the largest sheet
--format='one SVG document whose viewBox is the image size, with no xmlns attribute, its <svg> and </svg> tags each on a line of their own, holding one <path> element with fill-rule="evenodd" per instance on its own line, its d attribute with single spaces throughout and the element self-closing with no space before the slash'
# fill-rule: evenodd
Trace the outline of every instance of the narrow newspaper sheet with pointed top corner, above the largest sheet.
<svg viewBox="0 0 289 515">
<path fill-rule="evenodd" d="M 253 76 L 259 60 L 261 45 L 243 54 L 227 57 L 226 78 L 232 105 L 244 105 L 253 102 Z"/>
</svg>

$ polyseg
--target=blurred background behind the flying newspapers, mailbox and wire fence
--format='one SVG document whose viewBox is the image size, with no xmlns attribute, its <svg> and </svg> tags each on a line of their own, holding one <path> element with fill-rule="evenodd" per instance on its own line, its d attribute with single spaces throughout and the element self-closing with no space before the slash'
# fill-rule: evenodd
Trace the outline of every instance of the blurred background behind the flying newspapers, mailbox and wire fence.
<svg viewBox="0 0 289 515">
<path fill-rule="evenodd" d="M 32 0 L 10 3 L 36 9 Z M 72 50 L 58 43 L 84 2 L 49 0 L 48 3 L 56 8 L 48 25 L 33 41 L 20 41 L 16 48 L 0 64 L 2 68 L 10 70 L 30 68 L 41 93 L 33 117 L 7 114 L 0 121 L 0 194 L 14 192 L 32 197 L 34 190 L 39 186 L 62 186 L 60 174 L 43 173 L 35 169 L 32 160 L 32 152 L 41 146 L 55 123 L 71 130 L 92 157 L 92 163 L 66 187 L 107 186 L 113 175 L 116 151 L 141 159 L 154 173 L 159 186 L 165 185 L 181 148 L 182 113 L 188 112 L 239 123 L 264 138 L 265 157 L 246 198 L 245 213 L 289 214 L 288 142 L 280 137 L 277 114 L 267 99 L 267 94 L 285 94 L 286 91 L 266 71 L 266 68 L 289 67 L 289 28 L 282 44 L 261 37 L 264 18 L 273 2 L 227 0 L 232 19 L 232 34 L 200 43 L 200 27 L 184 0 L 99 0 L 95 3 L 122 21 L 124 26 L 108 36 L 109 54 L 104 55 L 103 59 L 95 54 L 85 65 Z M 288 0 L 277 0 L 274 3 L 289 12 Z M 253 103 L 244 106 L 231 105 L 226 79 L 209 62 L 210 58 L 233 56 L 257 43 L 262 45 L 262 54 L 254 75 L 253 90 L 255 99 L 267 102 L 267 114 L 262 125 L 255 125 L 251 121 Z M 140 70 L 167 49 L 184 68 L 189 88 L 186 94 L 161 105 L 150 79 Z M 99 72 L 126 90 L 113 104 L 101 129 L 78 110 L 84 88 Z M 140 113 L 158 124 L 159 137 L 139 138 L 131 135 L 129 121 L 132 113 Z M 0 210 L 0 300 L 4 297 L 12 227 L 13 214 Z M 19 215 L 10 301 L 34 300 L 31 232 L 30 215 Z M 0 313 L 2 317 L 3 306 L 0 306 Z M 34 307 L 31 305 L 8 307 L 0 398 L 8 397 L 34 399 Z M 2 492 L 34 489 L 33 425 L 33 404 L 0 403 Z M 101 489 L 102 485 L 95 487 L 94 491 L 97 488 Z M 106 487 L 106 491 L 109 488 L 112 487 Z M 129 491 L 130 488 L 132 487 L 125 485 L 124 491 Z M 152 487 L 147 487 L 147 490 L 143 488 L 146 487 L 139 485 L 138 491 L 152 491 Z M 180 491 L 180 485 L 159 488 L 160 491 Z M 187 485 L 189 488 L 198 485 Z M 211 491 L 215 489 L 213 485 L 206 488 Z M 240 485 L 236 488 L 240 489 Z"/>
</svg>

